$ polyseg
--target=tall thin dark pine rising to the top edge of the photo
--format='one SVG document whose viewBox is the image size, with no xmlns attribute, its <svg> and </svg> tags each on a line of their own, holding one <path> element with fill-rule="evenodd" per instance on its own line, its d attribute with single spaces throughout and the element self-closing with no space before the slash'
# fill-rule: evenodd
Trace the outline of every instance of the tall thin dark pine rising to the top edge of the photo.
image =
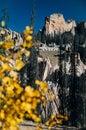
<svg viewBox="0 0 86 130">
<path fill-rule="evenodd" d="M 31 12 L 31 26 L 33 28 L 33 43 L 35 43 L 35 38 L 34 38 L 34 23 L 35 23 L 35 0 L 33 0 L 33 5 L 32 5 L 32 12 Z M 30 85 L 32 85 L 34 88 L 36 88 L 35 85 L 35 80 L 37 79 L 37 50 L 35 46 L 33 46 L 30 49 L 30 64 L 29 64 L 30 70 L 27 69 L 28 73 L 28 82 Z"/>
</svg>

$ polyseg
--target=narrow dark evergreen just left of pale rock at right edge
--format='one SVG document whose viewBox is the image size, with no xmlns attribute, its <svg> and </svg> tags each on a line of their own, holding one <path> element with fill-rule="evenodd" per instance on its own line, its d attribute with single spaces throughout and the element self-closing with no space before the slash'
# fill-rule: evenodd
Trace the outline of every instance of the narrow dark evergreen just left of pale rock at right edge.
<svg viewBox="0 0 86 130">
<path fill-rule="evenodd" d="M 71 53 L 71 86 L 70 86 L 70 122 L 72 126 L 77 125 L 77 111 L 76 111 L 76 66 L 75 66 L 75 37 L 72 45 Z"/>
</svg>

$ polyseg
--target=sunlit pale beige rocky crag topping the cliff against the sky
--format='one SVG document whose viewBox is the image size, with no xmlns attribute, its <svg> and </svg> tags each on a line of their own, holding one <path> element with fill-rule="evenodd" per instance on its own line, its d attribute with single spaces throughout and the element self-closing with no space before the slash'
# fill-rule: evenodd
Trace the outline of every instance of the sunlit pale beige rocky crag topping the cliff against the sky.
<svg viewBox="0 0 86 130">
<path fill-rule="evenodd" d="M 52 14 L 50 15 L 50 18 L 45 18 L 44 26 L 46 29 L 46 35 L 54 35 L 55 33 L 59 34 L 72 30 L 74 27 L 76 27 L 76 23 L 74 20 L 68 20 L 66 22 L 62 14 Z"/>
</svg>

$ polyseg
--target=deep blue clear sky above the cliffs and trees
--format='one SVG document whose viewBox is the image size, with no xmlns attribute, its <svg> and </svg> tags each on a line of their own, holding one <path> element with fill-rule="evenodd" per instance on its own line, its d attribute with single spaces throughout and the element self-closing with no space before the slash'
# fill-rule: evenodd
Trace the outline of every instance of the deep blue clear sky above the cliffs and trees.
<svg viewBox="0 0 86 130">
<path fill-rule="evenodd" d="M 2 9 L 9 14 L 8 27 L 22 32 L 30 24 L 32 0 L 0 0 L 0 18 Z M 86 0 L 35 0 L 35 31 L 44 25 L 46 16 L 61 13 L 66 20 L 86 21 Z"/>
</svg>

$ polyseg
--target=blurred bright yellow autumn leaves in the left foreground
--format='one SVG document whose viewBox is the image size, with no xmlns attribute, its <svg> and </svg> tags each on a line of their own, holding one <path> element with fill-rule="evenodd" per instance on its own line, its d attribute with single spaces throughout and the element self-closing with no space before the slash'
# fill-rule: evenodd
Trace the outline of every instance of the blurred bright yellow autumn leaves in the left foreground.
<svg viewBox="0 0 86 130">
<path fill-rule="evenodd" d="M 4 35 L 4 29 L 0 33 Z M 33 45 L 32 28 L 29 26 L 24 30 L 23 43 L 17 53 L 13 52 L 15 41 L 9 35 L 0 42 L 3 50 L 0 54 L 0 130 L 18 130 L 17 126 L 24 118 L 41 122 L 36 109 L 47 85 L 37 80 L 38 89 L 30 85 L 23 88 L 19 78 L 19 72 L 25 66 L 22 55 L 29 57 L 29 48 Z"/>
</svg>

